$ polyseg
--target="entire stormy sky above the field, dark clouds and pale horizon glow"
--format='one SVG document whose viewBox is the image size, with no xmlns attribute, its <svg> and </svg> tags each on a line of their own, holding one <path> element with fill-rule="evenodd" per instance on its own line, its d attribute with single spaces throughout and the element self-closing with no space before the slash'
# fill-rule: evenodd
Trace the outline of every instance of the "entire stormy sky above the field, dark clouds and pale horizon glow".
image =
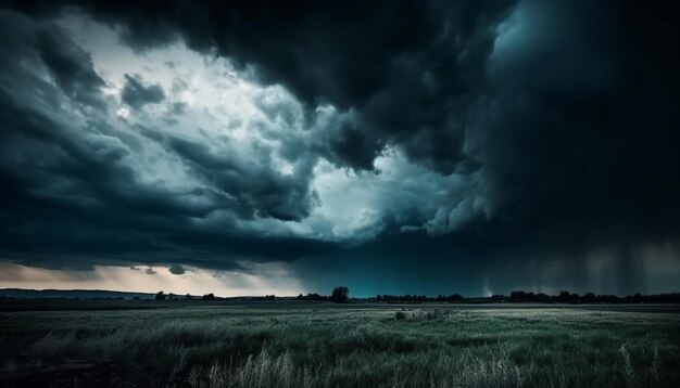
<svg viewBox="0 0 680 388">
<path fill-rule="evenodd" d="M 676 1 L 0 1 L 0 287 L 680 290 Z"/>
</svg>

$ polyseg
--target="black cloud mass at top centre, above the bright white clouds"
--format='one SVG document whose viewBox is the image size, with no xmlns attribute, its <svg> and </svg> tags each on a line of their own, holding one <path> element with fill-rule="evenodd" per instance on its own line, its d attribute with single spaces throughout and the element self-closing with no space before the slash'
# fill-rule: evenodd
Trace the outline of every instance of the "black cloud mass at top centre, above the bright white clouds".
<svg viewBox="0 0 680 388">
<path fill-rule="evenodd" d="M 78 3 L 78 2 L 75 2 Z M 326 141 L 336 164 L 372 169 L 388 143 L 415 160 L 453 171 L 462 153 L 467 104 L 483 85 L 496 26 L 513 1 L 184 1 L 81 4 L 146 50 L 178 38 L 256 66 L 313 109 L 331 103 L 361 120 Z M 55 5 L 18 3 L 36 14 Z M 367 31 L 370 31 L 369 34 Z M 350 43 L 351 42 L 351 43 Z M 362 135 L 357 135 L 362 133 Z M 358 147 L 350 144 L 360 142 Z"/>
</svg>

